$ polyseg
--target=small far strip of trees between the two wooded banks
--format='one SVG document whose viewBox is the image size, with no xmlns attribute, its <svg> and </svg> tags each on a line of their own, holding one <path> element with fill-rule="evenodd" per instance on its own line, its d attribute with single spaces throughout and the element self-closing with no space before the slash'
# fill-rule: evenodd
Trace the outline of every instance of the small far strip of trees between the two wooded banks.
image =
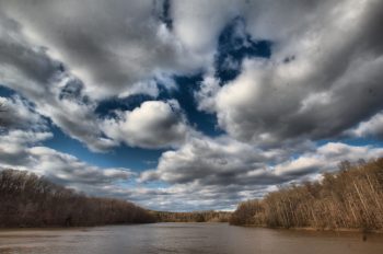
<svg viewBox="0 0 383 254">
<path fill-rule="evenodd" d="M 231 216 L 231 212 L 213 210 L 192 212 L 152 212 L 159 222 L 228 222 Z"/>
</svg>

